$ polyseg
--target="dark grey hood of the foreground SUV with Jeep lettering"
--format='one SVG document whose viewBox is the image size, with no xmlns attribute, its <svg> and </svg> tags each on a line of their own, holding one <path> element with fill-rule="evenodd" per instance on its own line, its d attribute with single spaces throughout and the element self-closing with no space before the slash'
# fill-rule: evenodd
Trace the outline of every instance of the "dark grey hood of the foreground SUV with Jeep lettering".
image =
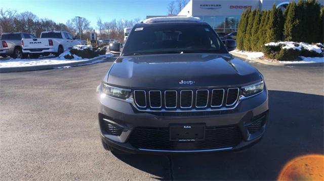
<svg viewBox="0 0 324 181">
<path fill-rule="evenodd" d="M 262 79 L 248 63 L 230 54 L 120 56 L 108 71 L 108 84 L 126 88 L 228 87 Z M 191 81 L 181 84 L 183 81 Z"/>
</svg>

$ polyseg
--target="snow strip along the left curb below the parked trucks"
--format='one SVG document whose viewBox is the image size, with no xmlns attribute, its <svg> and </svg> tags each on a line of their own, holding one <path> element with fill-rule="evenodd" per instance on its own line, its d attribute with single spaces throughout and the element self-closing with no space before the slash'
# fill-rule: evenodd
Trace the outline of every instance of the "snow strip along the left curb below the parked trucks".
<svg viewBox="0 0 324 181">
<path fill-rule="evenodd" d="M 94 58 L 82 58 L 76 55 L 73 55 L 74 58 L 73 59 L 66 59 L 64 58 L 64 55 L 69 54 L 69 51 L 65 51 L 62 54 L 60 54 L 58 57 L 41 57 L 41 58 L 26 58 L 26 59 L 8 59 L 6 61 L 1 61 L 0 60 L 0 68 L 15 68 L 15 67 L 32 67 L 32 66 L 44 66 L 44 65 L 62 65 L 62 64 L 69 64 L 69 63 L 76 63 L 79 62 L 79 65 L 90 65 L 90 64 L 96 64 L 99 61 L 103 61 L 104 58 L 106 57 L 112 57 L 113 54 L 112 53 L 106 53 L 105 55 L 100 55 L 94 58 L 98 58 L 101 57 L 102 59 L 99 59 L 97 61 L 91 62 L 91 63 L 87 63 L 87 64 L 83 64 L 86 61 L 89 61 L 91 59 Z M 66 67 L 61 67 L 61 68 L 67 68 Z"/>
</svg>

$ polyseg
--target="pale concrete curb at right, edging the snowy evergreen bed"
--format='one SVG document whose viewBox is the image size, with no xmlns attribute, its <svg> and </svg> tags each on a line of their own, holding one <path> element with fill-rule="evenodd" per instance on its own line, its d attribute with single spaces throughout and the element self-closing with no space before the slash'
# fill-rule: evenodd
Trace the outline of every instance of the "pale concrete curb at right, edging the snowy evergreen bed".
<svg viewBox="0 0 324 181">
<path fill-rule="evenodd" d="M 277 63 L 277 62 L 268 62 L 264 61 L 259 58 L 248 58 L 247 55 L 244 54 L 238 54 L 234 52 L 229 52 L 234 56 L 237 56 L 239 58 L 244 58 L 244 59 L 251 59 L 251 61 L 258 62 L 260 64 L 265 64 L 265 65 L 270 65 L 270 66 L 295 66 L 295 67 L 321 67 L 324 66 L 324 63 L 305 63 L 305 64 L 282 64 L 282 63 Z"/>
</svg>

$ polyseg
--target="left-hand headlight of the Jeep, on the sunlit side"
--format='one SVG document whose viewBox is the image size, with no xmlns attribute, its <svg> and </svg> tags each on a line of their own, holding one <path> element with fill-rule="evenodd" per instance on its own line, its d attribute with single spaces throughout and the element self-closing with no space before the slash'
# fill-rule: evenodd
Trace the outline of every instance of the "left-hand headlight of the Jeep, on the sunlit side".
<svg viewBox="0 0 324 181">
<path fill-rule="evenodd" d="M 131 95 L 130 89 L 118 88 L 109 86 L 103 82 L 101 82 L 101 93 L 104 93 L 108 96 L 120 98 L 120 99 L 127 99 Z"/>
</svg>

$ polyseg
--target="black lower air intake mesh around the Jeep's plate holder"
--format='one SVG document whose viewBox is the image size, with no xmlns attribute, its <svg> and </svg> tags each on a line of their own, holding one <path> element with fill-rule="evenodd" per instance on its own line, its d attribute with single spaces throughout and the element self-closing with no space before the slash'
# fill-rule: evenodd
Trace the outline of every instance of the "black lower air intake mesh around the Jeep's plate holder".
<svg viewBox="0 0 324 181">
<path fill-rule="evenodd" d="M 234 147 L 240 143 L 242 135 L 238 127 L 207 127 L 204 141 L 170 141 L 168 128 L 135 128 L 129 143 L 135 148 L 158 150 L 193 150 Z"/>
</svg>

